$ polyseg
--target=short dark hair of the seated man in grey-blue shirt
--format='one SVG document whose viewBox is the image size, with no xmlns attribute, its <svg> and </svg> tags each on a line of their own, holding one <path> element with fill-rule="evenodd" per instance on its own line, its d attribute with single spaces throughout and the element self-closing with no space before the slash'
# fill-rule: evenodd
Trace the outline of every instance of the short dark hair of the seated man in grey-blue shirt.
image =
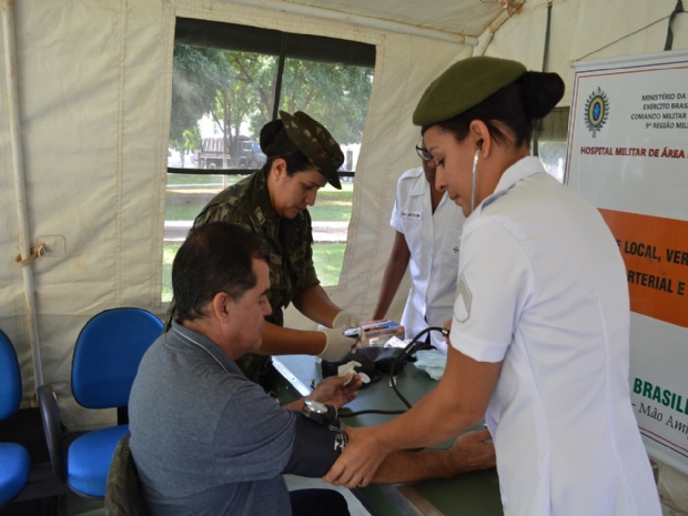
<svg viewBox="0 0 688 516">
<path fill-rule="evenodd" d="M 239 301 L 257 283 L 253 259 L 269 263 L 270 253 L 244 226 L 211 222 L 193 227 L 172 264 L 178 320 L 202 317 L 203 307 L 219 292 Z"/>
</svg>

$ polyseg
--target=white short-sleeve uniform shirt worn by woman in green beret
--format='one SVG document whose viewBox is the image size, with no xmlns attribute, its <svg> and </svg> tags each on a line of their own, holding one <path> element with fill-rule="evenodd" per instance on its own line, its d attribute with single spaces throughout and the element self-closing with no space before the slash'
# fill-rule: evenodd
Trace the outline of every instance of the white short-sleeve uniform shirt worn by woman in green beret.
<svg viewBox="0 0 688 516">
<path fill-rule="evenodd" d="M 486 419 L 507 516 L 659 516 L 628 384 L 629 300 L 599 212 L 524 158 L 467 219 L 452 345 L 503 361 Z"/>
</svg>

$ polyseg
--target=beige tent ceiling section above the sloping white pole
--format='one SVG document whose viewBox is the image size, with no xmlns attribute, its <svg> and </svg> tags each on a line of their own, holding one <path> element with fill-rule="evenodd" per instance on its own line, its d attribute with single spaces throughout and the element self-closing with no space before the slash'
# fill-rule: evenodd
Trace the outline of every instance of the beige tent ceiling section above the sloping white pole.
<svg viewBox="0 0 688 516">
<path fill-rule="evenodd" d="M 285 0 L 366 18 L 478 37 L 503 11 L 497 0 Z"/>
</svg>

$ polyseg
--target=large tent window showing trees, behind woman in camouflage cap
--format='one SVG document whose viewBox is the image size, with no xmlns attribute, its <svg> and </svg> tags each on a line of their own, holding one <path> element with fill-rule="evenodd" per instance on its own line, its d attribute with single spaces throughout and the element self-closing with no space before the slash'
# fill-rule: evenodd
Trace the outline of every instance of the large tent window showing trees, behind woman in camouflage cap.
<svg viewBox="0 0 688 516">
<path fill-rule="evenodd" d="M 342 144 L 342 191 L 322 189 L 308 210 L 318 277 L 337 284 L 375 47 L 178 18 L 173 60 L 162 301 L 172 297 L 172 260 L 195 216 L 265 163 L 259 133 L 279 110 L 305 111 Z"/>
</svg>

